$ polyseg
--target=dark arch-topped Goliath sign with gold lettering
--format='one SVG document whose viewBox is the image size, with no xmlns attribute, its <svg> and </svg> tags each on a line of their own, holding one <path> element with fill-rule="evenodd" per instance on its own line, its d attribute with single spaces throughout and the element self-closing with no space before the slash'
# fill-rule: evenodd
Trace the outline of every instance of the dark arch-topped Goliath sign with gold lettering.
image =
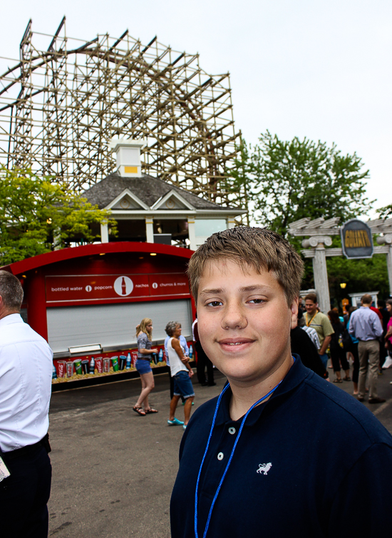
<svg viewBox="0 0 392 538">
<path fill-rule="evenodd" d="M 371 258 L 373 236 L 371 228 L 362 220 L 353 218 L 341 227 L 341 247 L 346 258 Z"/>
</svg>

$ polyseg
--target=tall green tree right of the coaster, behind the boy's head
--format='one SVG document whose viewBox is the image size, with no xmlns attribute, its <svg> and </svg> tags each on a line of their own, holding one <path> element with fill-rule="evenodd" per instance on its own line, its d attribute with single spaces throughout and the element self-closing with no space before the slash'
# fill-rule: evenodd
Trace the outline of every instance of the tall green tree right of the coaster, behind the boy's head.
<svg viewBox="0 0 392 538">
<path fill-rule="evenodd" d="M 369 174 L 361 158 L 342 155 L 335 144 L 297 137 L 281 141 L 267 131 L 257 146 L 242 151 L 239 165 L 234 179 L 247 184 L 252 218 L 284 236 L 295 220 L 344 221 L 371 207 L 365 197 Z"/>
</svg>

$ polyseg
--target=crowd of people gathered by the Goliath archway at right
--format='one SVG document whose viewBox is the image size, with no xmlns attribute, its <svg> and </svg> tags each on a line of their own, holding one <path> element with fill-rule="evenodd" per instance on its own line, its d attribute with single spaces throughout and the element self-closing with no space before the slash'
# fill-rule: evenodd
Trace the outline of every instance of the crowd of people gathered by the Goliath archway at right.
<svg viewBox="0 0 392 538">
<path fill-rule="evenodd" d="M 368 392 L 369 403 L 382 403 L 385 400 L 378 396 L 377 379 L 383 369 L 392 366 L 392 300 L 378 300 L 377 308 L 372 303 L 371 295 L 365 294 L 359 308 L 351 306 L 344 315 L 334 308 L 325 315 L 319 309 L 316 294 L 309 293 L 304 302 L 300 299 L 298 315 L 299 327 L 308 338 L 302 335 L 299 343 L 299 331 L 292 330 L 292 347 L 306 366 L 322 377 L 328 377 L 327 369 L 331 368 L 334 383 L 352 381 L 353 395 L 359 401 L 363 402 Z M 320 370 L 314 350 L 324 370 Z"/>
</svg>

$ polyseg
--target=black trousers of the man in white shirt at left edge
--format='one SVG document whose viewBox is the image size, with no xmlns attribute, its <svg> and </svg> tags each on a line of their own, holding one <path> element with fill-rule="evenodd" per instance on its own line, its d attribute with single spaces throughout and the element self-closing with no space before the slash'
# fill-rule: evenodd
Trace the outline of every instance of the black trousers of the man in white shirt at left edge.
<svg viewBox="0 0 392 538">
<path fill-rule="evenodd" d="M 0 482 L 0 535 L 47 538 L 51 460 L 42 445 L 28 455 L 3 460 L 11 476 Z"/>
</svg>

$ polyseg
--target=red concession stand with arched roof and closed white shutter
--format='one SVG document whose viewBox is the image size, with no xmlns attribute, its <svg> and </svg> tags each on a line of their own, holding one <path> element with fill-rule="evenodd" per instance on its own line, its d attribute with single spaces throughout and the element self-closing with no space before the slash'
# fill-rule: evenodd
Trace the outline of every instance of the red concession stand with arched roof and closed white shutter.
<svg viewBox="0 0 392 538">
<path fill-rule="evenodd" d="M 24 287 L 21 315 L 53 350 L 53 390 L 126 379 L 135 372 L 135 328 L 153 320 L 152 362 L 165 371 L 165 326 L 192 339 L 185 274 L 193 251 L 157 243 L 115 242 L 65 248 L 2 269 Z"/>
</svg>

